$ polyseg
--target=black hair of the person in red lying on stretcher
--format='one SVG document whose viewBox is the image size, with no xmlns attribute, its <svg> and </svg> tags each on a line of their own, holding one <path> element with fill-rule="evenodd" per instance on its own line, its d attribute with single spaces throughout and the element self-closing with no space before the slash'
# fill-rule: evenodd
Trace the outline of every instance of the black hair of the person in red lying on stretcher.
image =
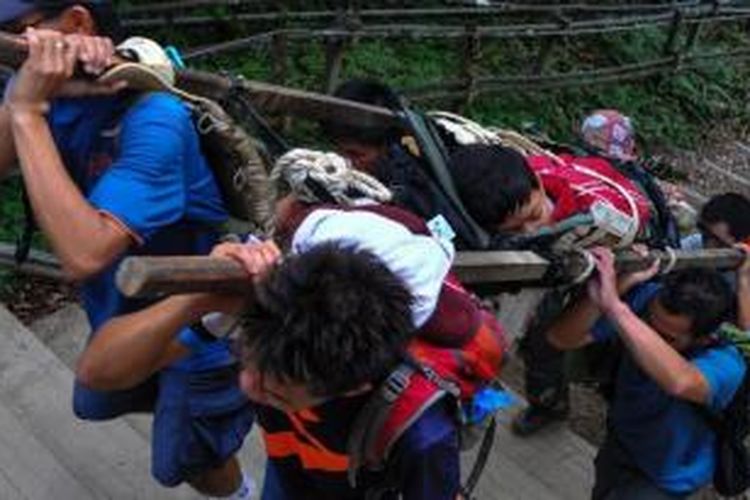
<svg viewBox="0 0 750 500">
<path fill-rule="evenodd" d="M 449 166 L 469 215 L 490 231 L 528 202 L 532 191 L 540 187 L 526 159 L 502 146 L 458 147 Z"/>
</svg>

